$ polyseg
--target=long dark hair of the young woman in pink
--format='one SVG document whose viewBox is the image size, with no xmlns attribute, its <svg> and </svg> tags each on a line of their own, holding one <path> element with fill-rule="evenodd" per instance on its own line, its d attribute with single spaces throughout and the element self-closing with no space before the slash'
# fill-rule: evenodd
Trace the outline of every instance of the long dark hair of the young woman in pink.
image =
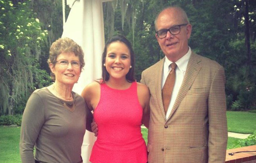
<svg viewBox="0 0 256 163">
<path fill-rule="evenodd" d="M 135 67 L 134 63 L 135 63 L 135 60 L 134 60 L 134 51 L 132 49 L 132 45 L 131 45 L 130 41 L 127 40 L 124 36 L 116 35 L 116 36 L 110 37 L 108 39 L 107 43 L 105 44 L 104 51 L 102 53 L 102 62 L 101 62 L 102 81 L 100 83 L 104 83 L 105 81 L 109 80 L 109 73 L 107 72 L 106 67 L 104 66 L 104 63 L 106 62 L 107 48 L 111 43 L 117 42 L 117 41 L 124 43 L 128 47 L 128 49 L 130 50 L 132 68 L 130 68 L 129 72 L 126 74 L 125 77 L 126 77 L 126 80 L 130 83 L 135 81 L 135 78 L 134 78 L 134 67 Z"/>
</svg>

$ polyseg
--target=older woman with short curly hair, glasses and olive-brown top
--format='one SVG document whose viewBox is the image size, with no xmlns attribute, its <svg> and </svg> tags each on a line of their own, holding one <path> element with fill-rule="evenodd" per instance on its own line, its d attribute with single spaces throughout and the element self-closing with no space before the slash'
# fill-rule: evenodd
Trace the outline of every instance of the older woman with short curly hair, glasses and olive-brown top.
<svg viewBox="0 0 256 163">
<path fill-rule="evenodd" d="M 60 38 L 50 48 L 48 63 L 54 83 L 35 90 L 27 101 L 21 159 L 24 163 L 81 163 L 83 137 L 92 114 L 72 88 L 85 65 L 83 50 L 73 40 Z"/>
</svg>

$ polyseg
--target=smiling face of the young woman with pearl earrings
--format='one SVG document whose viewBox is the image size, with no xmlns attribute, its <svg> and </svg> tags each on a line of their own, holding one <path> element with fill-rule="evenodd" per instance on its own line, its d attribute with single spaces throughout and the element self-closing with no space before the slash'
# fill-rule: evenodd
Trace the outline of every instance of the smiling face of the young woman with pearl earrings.
<svg viewBox="0 0 256 163">
<path fill-rule="evenodd" d="M 126 74 L 131 66 L 129 48 L 120 41 L 109 44 L 106 51 L 105 65 L 109 79 L 126 79 Z"/>
</svg>

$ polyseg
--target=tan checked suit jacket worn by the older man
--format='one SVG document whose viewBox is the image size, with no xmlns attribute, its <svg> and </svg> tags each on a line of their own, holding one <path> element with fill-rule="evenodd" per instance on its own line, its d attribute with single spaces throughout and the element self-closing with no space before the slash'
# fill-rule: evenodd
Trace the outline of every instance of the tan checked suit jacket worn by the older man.
<svg viewBox="0 0 256 163">
<path fill-rule="evenodd" d="M 166 120 L 162 102 L 164 58 L 142 72 L 150 89 L 149 163 L 224 163 L 227 119 L 224 69 L 192 52 Z"/>
</svg>

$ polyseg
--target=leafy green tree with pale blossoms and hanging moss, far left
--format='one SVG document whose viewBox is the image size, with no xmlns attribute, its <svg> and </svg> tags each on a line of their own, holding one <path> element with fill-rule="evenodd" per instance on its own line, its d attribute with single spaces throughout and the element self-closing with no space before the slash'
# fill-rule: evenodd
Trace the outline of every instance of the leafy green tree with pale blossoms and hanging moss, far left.
<svg viewBox="0 0 256 163">
<path fill-rule="evenodd" d="M 47 83 L 39 80 L 48 80 L 38 65 L 48 32 L 41 30 L 30 3 L 0 0 L 0 115 L 13 114 L 21 98 Z"/>
</svg>

